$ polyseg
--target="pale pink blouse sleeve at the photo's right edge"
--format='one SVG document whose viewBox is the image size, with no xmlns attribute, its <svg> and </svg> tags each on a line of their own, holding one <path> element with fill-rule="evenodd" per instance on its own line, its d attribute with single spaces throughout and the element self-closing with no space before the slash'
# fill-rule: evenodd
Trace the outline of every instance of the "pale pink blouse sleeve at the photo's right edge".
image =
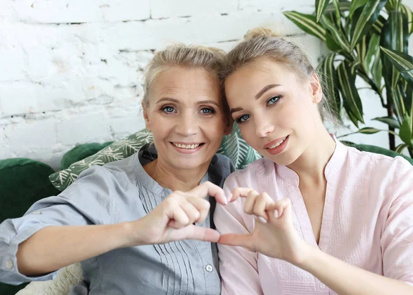
<svg viewBox="0 0 413 295">
<path fill-rule="evenodd" d="M 388 195 L 392 204 L 381 236 L 383 274 L 413 285 L 413 166 L 400 159 Z"/>
</svg>

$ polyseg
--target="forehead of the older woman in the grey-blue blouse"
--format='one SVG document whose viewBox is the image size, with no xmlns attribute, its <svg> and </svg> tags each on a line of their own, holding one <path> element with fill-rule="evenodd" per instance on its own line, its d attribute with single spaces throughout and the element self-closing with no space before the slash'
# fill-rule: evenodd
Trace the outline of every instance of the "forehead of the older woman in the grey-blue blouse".
<svg viewBox="0 0 413 295">
<path fill-rule="evenodd" d="M 164 96 L 220 99 L 220 83 L 201 68 L 171 67 L 158 74 L 151 89 L 153 98 Z M 178 97 L 175 97 L 178 96 Z"/>
</svg>

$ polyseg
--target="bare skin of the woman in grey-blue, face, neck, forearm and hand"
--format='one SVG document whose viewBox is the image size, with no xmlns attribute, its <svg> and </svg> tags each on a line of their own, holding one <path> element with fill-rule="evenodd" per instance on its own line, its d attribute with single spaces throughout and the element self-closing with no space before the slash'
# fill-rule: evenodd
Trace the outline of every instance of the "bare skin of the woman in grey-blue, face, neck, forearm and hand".
<svg viewBox="0 0 413 295">
<path fill-rule="evenodd" d="M 218 203 L 227 204 L 222 188 L 211 182 L 199 185 L 218 151 L 222 135 L 229 133 L 221 103 L 218 80 L 204 70 L 172 68 L 162 72 L 149 93 L 149 105 L 144 108 L 158 160 L 144 168 L 161 186 L 175 191 L 136 221 L 49 226 L 39 230 L 19 245 L 19 272 L 39 276 L 114 249 L 137 245 L 180 239 L 217 242 L 220 234 L 216 230 L 193 223 L 202 223 L 207 218 L 210 204 L 204 197 L 215 197 Z M 178 152 L 171 142 L 203 145 L 189 154 Z"/>
</svg>

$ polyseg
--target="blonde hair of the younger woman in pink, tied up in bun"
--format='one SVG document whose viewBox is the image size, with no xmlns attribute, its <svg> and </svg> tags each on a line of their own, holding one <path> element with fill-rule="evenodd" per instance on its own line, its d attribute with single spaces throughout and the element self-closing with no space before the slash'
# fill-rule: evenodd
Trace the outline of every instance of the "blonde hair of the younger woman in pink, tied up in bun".
<svg viewBox="0 0 413 295">
<path fill-rule="evenodd" d="M 311 78 L 316 73 L 308 57 L 298 45 L 282 39 L 272 30 L 255 28 L 249 30 L 244 35 L 244 41 L 238 43 L 226 55 L 226 65 L 221 72 L 222 82 L 240 67 L 251 65 L 259 58 L 282 63 L 301 79 Z M 321 80 L 320 84 L 322 84 Z M 322 120 L 328 118 L 334 123 L 338 122 L 324 94 L 318 107 Z"/>
</svg>

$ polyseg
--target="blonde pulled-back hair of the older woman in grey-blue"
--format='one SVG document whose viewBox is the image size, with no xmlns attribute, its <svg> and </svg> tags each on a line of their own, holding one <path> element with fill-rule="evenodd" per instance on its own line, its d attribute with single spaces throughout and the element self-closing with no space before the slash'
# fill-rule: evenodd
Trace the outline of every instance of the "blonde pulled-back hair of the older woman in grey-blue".
<svg viewBox="0 0 413 295">
<path fill-rule="evenodd" d="M 149 94 L 151 87 L 156 81 L 156 77 L 166 69 L 171 67 L 188 67 L 204 69 L 220 82 L 220 71 L 224 67 L 225 52 L 215 47 L 204 47 L 196 45 L 174 44 L 169 45 L 165 50 L 156 52 L 145 68 L 144 96 L 142 105 L 149 105 Z M 223 91 L 222 91 L 223 92 Z M 229 107 L 221 96 L 222 107 L 227 120 L 230 120 Z"/>
</svg>

